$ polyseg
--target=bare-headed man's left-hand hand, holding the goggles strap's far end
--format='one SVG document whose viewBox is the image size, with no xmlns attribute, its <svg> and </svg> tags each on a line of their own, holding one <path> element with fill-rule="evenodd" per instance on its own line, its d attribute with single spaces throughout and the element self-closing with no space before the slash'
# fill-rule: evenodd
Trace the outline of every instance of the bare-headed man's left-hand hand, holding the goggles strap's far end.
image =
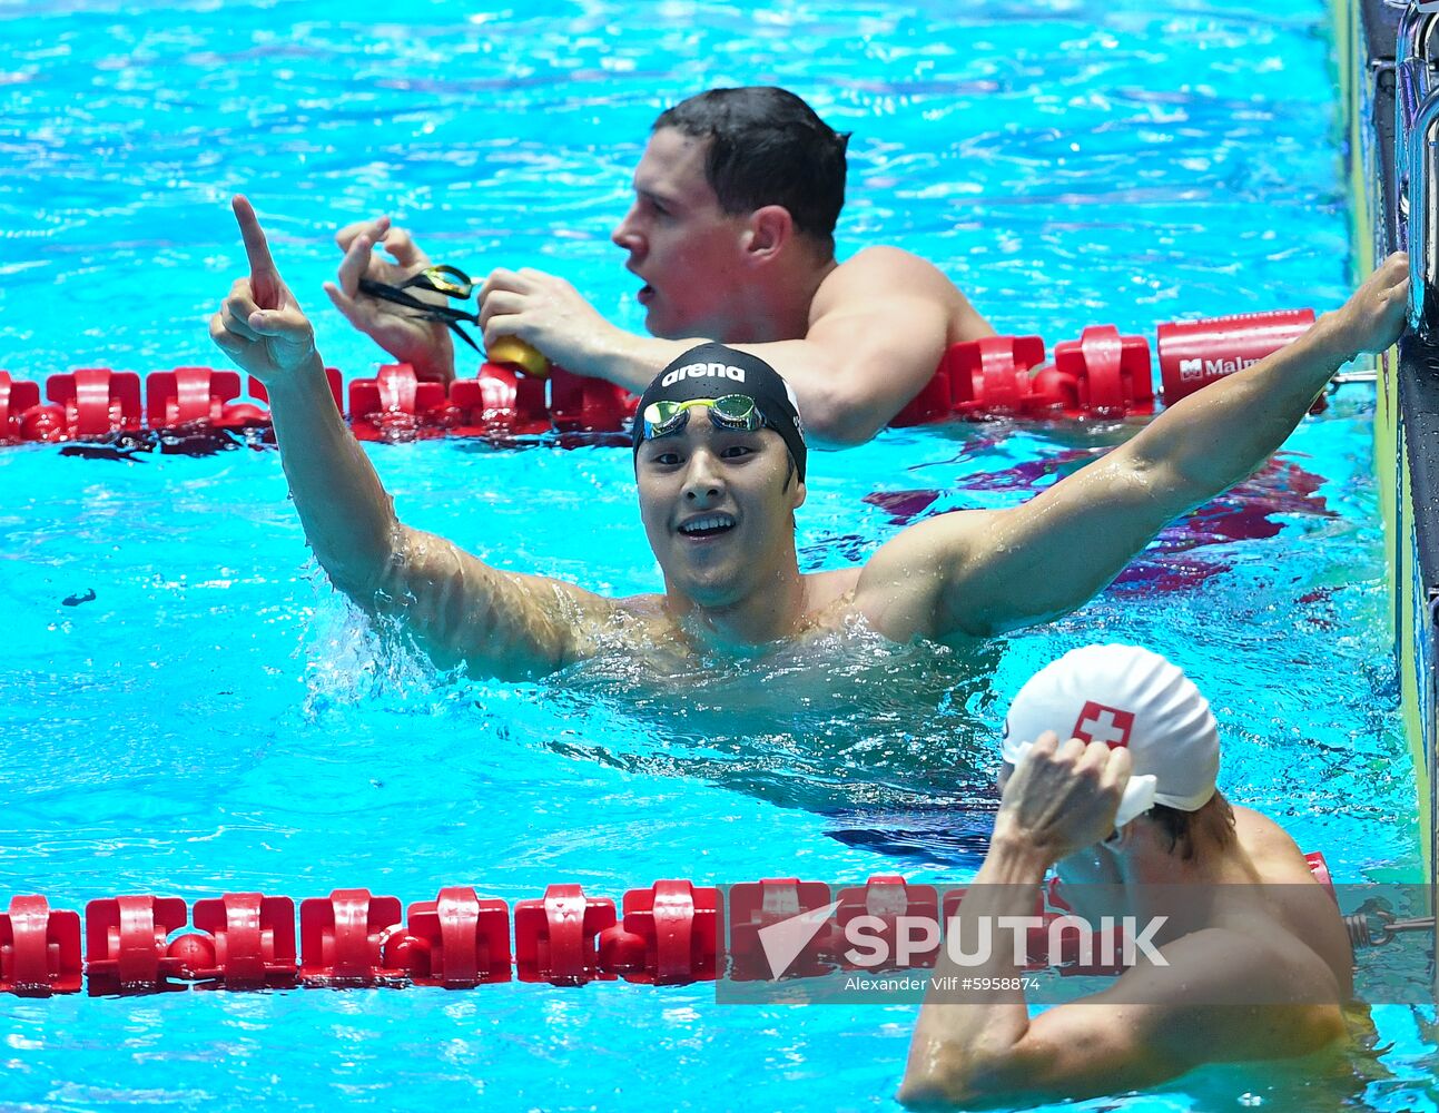
<svg viewBox="0 0 1439 1113">
<path fill-rule="evenodd" d="M 335 243 L 345 256 L 340 261 L 338 282 L 325 282 L 325 294 L 334 307 L 394 359 L 413 366 L 420 379 L 452 379 L 455 348 L 442 323 L 417 317 L 403 305 L 371 298 L 360 291 L 361 278 L 397 287 L 430 266 L 430 256 L 416 246 L 409 232 L 393 227 L 389 216 L 347 225 L 340 229 Z M 374 253 L 377 243 L 384 245 L 393 263 Z M 427 297 L 436 304 L 445 301 L 439 294 L 426 295 L 417 288 L 407 292 L 422 301 Z"/>
</svg>

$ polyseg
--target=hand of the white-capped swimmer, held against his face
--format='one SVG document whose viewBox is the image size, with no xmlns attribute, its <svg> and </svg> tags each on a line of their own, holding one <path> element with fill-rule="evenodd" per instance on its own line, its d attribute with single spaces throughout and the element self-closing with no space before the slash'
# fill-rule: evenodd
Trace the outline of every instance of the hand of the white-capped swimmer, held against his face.
<svg viewBox="0 0 1439 1113">
<path fill-rule="evenodd" d="M 1046 730 L 1004 786 L 994 841 L 1022 839 L 1050 864 L 1101 842 L 1114 831 L 1130 770 L 1130 752 L 1122 746 L 1061 743 Z"/>
</svg>

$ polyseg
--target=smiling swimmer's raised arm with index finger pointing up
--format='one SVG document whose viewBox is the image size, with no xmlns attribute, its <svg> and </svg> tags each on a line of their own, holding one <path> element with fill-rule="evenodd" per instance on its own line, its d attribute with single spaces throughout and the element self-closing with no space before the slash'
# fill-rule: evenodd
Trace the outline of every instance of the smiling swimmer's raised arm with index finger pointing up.
<svg viewBox="0 0 1439 1113">
<path fill-rule="evenodd" d="M 564 667 L 578 629 L 609 602 L 558 580 L 492 569 L 394 517 L 335 409 L 314 330 L 271 258 L 249 202 L 235 199 L 250 275 L 210 320 L 214 343 L 271 397 L 285 478 L 331 582 L 371 613 L 400 616 L 440 667 L 531 678 Z"/>
</svg>

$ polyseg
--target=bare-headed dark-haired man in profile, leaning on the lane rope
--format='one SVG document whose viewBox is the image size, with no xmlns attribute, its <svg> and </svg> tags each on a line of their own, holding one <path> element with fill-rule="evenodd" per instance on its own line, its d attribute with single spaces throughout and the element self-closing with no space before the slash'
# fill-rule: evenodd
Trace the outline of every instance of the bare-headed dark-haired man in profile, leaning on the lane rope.
<svg viewBox="0 0 1439 1113">
<path fill-rule="evenodd" d="M 872 438 L 930 382 L 951 344 L 994 330 L 940 271 L 896 248 L 835 261 L 848 135 L 794 94 L 711 89 L 663 112 L 613 240 L 645 285 L 640 337 L 606 321 L 563 278 L 494 271 L 479 292 L 485 344 L 519 337 L 551 363 L 639 395 L 701 340 L 737 344 L 794 387 L 810 436 Z M 425 379 L 455 376 L 450 334 L 360 292 L 430 261 L 389 217 L 338 235 L 335 307 Z M 373 253 L 383 243 L 394 258 Z"/>
</svg>

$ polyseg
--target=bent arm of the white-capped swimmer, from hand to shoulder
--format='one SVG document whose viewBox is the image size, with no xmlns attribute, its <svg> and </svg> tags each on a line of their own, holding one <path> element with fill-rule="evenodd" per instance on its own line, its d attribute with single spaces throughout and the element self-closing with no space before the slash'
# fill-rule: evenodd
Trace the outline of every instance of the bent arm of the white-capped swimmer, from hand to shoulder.
<svg viewBox="0 0 1439 1113">
<path fill-rule="evenodd" d="M 1122 749 L 1040 736 L 1004 789 L 990 851 L 950 932 L 1027 916 L 1045 871 L 1114 826 L 1130 773 Z M 1275 927 L 1274 924 L 1268 924 Z M 1200 1063 L 1301 1055 L 1344 1031 L 1334 972 L 1282 930 L 1206 929 L 1163 947 L 1111 988 L 1030 1018 L 1022 989 L 940 991 L 947 976 L 1017 985 L 1007 937 L 983 966 L 941 952 L 899 1099 L 991 1106 L 1151 1086 Z M 966 940 L 966 953 L 979 953 Z"/>
</svg>

